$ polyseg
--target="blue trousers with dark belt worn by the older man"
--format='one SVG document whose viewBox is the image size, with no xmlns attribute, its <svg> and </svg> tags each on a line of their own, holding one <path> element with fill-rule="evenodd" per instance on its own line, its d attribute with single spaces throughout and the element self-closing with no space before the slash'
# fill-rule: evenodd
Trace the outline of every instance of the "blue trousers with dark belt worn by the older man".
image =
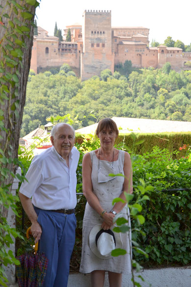
<svg viewBox="0 0 191 287">
<path fill-rule="evenodd" d="M 75 243 L 75 214 L 63 214 L 38 209 L 38 223 L 42 235 L 38 251 L 45 252 L 48 258 L 48 269 L 43 287 L 67 287 L 70 270 L 70 259 Z"/>
</svg>

